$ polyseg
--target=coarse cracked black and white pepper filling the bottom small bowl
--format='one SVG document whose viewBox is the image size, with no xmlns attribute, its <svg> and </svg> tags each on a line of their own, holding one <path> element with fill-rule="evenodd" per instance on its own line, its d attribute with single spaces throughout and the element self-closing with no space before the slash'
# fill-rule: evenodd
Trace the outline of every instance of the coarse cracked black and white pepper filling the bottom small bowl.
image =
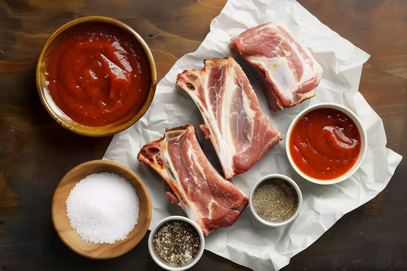
<svg viewBox="0 0 407 271">
<path fill-rule="evenodd" d="M 155 256 L 170 266 L 182 266 L 198 254 L 199 235 L 195 228 L 184 221 L 169 221 L 155 232 L 153 249 Z"/>
</svg>

